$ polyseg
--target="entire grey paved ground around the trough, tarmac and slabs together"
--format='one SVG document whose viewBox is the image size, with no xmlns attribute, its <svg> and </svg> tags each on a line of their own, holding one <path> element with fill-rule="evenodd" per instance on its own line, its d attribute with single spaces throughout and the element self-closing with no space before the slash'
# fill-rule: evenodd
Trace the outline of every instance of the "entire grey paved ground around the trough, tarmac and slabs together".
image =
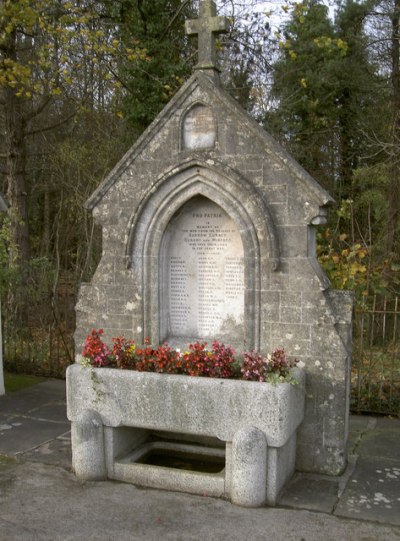
<svg viewBox="0 0 400 541">
<path fill-rule="evenodd" d="M 276 508 L 71 473 L 65 385 L 0 397 L 0 541 L 400 541 L 400 420 L 351 418 L 340 478 L 296 474 Z"/>
</svg>

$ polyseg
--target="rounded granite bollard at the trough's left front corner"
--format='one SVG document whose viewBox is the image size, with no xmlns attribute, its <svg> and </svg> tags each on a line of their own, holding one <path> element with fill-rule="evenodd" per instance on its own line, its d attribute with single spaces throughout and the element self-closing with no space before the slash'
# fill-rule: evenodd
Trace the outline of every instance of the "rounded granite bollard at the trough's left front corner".
<svg viewBox="0 0 400 541">
<path fill-rule="evenodd" d="M 71 444 L 72 468 L 78 479 L 101 481 L 107 478 L 103 422 L 96 411 L 87 410 L 72 423 Z"/>
</svg>

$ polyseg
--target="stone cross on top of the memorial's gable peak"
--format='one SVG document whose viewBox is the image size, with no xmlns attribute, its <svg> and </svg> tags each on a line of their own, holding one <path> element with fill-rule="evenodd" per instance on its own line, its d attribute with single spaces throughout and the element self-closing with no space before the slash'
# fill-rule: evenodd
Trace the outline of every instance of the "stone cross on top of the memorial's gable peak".
<svg viewBox="0 0 400 541">
<path fill-rule="evenodd" d="M 217 69 L 215 35 L 227 32 L 228 20 L 226 17 L 217 17 L 216 14 L 213 0 L 200 0 L 199 18 L 186 21 L 186 34 L 197 35 L 199 39 L 197 69 Z"/>
</svg>

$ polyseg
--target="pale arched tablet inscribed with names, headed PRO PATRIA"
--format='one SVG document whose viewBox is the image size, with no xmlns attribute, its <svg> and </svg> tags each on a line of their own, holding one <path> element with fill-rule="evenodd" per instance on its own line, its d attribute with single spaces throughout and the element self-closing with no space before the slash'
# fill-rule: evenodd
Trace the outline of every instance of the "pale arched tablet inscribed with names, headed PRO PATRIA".
<svg viewBox="0 0 400 541">
<path fill-rule="evenodd" d="M 164 240 L 168 335 L 237 339 L 243 334 L 244 262 L 233 220 L 196 197 L 171 220 Z"/>
</svg>

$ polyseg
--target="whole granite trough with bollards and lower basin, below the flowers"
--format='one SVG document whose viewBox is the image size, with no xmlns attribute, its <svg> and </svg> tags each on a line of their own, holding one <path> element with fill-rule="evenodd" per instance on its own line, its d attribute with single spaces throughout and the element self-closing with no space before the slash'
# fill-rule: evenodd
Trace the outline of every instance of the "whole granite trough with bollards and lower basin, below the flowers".
<svg viewBox="0 0 400 541">
<path fill-rule="evenodd" d="M 304 416 L 299 385 L 271 385 L 109 368 L 70 366 L 67 411 L 72 460 L 81 479 L 275 505 L 295 467 Z M 143 463 L 163 450 L 219 460 L 216 473 Z"/>
</svg>

